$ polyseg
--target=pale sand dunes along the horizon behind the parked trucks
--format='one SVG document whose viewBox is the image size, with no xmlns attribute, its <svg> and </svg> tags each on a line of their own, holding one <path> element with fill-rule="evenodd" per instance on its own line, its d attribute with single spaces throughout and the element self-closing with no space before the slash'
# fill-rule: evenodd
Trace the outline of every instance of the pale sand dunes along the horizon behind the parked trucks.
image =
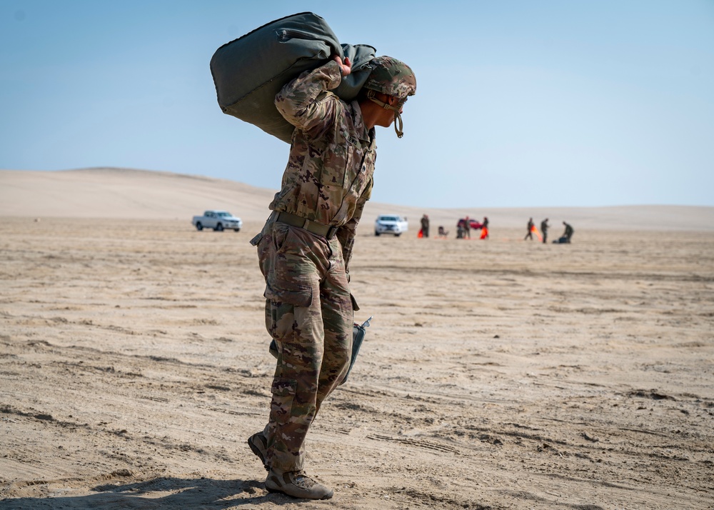
<svg viewBox="0 0 714 510">
<path fill-rule="evenodd" d="M 276 184 L 278 182 L 276 176 Z M 0 171 L 0 216 L 186 219 L 204 209 L 228 209 L 261 221 L 276 190 L 204 176 L 132 169 Z M 434 226 L 453 229 L 465 215 L 488 216 L 492 229 L 525 229 L 548 217 L 554 229 L 565 220 L 576 229 L 714 231 L 714 207 L 617 206 L 433 209 L 370 202 L 365 221 L 402 214 L 416 226 L 428 214 Z"/>
</svg>

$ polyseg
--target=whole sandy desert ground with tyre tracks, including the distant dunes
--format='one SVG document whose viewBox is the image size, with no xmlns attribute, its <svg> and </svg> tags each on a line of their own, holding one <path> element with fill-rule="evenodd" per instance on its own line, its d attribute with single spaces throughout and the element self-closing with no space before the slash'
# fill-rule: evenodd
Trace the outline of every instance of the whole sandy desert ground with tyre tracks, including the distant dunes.
<svg viewBox="0 0 714 510">
<path fill-rule="evenodd" d="M 714 208 L 665 206 L 370 204 L 371 327 L 307 444 L 335 496 L 268 493 L 246 439 L 274 369 L 248 243 L 271 194 L 0 171 L 0 509 L 714 509 Z M 212 207 L 243 229 L 193 229 Z M 374 236 L 377 210 L 411 230 Z M 529 215 L 573 243 L 524 241 Z"/>
</svg>

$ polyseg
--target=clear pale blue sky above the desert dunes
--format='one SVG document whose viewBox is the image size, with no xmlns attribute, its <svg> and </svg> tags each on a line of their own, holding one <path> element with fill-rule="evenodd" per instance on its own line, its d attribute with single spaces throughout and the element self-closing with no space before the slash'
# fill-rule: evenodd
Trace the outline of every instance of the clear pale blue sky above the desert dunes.
<svg viewBox="0 0 714 510">
<path fill-rule="evenodd" d="M 288 145 L 221 112 L 208 62 L 300 11 L 416 73 L 373 200 L 714 206 L 714 0 L 0 0 L 0 168 L 276 189 Z"/>
</svg>

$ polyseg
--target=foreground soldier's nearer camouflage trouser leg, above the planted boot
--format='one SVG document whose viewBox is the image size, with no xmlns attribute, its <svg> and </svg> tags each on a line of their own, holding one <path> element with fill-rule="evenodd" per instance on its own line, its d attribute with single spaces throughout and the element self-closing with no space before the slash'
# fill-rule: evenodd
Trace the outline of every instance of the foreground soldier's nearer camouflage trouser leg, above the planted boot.
<svg viewBox="0 0 714 510">
<path fill-rule="evenodd" d="M 266 464 L 278 471 L 303 469 L 304 441 L 317 409 L 324 353 L 320 280 L 328 268 L 324 240 L 276 224 L 266 271 L 266 328 L 278 348 L 271 391 Z"/>
</svg>

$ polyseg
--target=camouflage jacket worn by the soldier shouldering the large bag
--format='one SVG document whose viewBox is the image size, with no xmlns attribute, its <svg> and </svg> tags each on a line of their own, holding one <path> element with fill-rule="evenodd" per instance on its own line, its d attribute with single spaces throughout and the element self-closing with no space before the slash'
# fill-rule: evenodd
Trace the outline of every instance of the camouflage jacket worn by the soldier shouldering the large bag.
<svg viewBox="0 0 714 510">
<path fill-rule="evenodd" d="M 330 61 L 304 72 L 276 96 L 276 108 L 296 129 L 281 190 L 270 209 L 338 226 L 348 268 L 372 191 L 376 143 L 357 101 L 348 104 L 330 92 L 341 79 L 338 64 Z"/>
</svg>

